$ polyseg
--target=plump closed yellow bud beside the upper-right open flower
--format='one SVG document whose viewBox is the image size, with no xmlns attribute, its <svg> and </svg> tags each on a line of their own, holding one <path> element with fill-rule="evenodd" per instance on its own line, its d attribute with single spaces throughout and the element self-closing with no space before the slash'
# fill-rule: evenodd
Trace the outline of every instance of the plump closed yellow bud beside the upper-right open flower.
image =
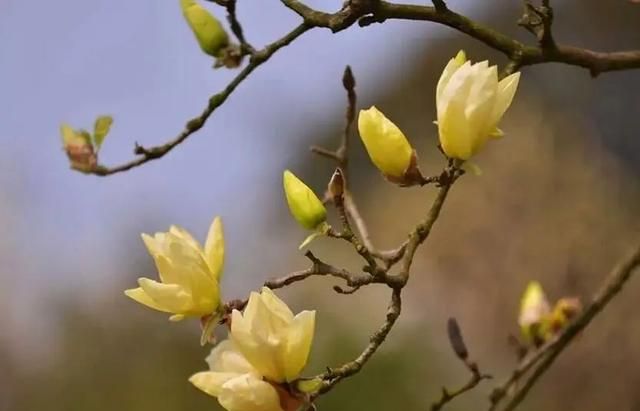
<svg viewBox="0 0 640 411">
<path fill-rule="evenodd" d="M 386 176 L 402 179 L 413 156 L 413 148 L 402 130 L 372 106 L 368 110 L 360 110 L 358 131 L 378 170 Z"/>
</svg>

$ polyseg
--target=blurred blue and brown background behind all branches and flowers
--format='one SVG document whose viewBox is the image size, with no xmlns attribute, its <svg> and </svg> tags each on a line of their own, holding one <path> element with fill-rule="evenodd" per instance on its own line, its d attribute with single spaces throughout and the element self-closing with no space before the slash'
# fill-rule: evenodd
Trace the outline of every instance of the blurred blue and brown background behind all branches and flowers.
<svg viewBox="0 0 640 411">
<path fill-rule="evenodd" d="M 513 35 L 519 1 L 451 0 L 456 11 Z M 340 1 L 308 1 L 328 11 Z M 222 11 L 211 9 L 221 16 Z M 620 0 L 557 2 L 556 38 L 597 50 L 638 48 L 640 6 Z M 248 39 L 261 46 L 298 23 L 279 2 L 239 1 Z M 606 18 L 605 18 L 606 17 Z M 234 71 L 211 70 L 178 1 L 0 0 L 0 410 L 215 410 L 187 378 L 206 367 L 195 321 L 169 323 L 122 294 L 155 277 L 140 233 L 179 224 L 204 239 L 223 217 L 223 292 L 243 298 L 270 277 L 305 268 L 306 233 L 283 200 L 290 168 L 322 192 L 333 165 L 311 144 L 338 143 L 353 67 L 359 106 L 377 105 L 407 134 L 427 174 L 437 154 L 434 90 L 460 48 L 502 56 L 450 29 L 390 21 L 332 35 L 314 30 L 243 83 L 205 128 L 160 161 L 108 178 L 68 168 L 61 122 L 115 125 L 101 152 L 127 161 L 135 142 L 175 136 Z M 640 73 L 592 79 L 575 67 L 524 69 L 505 117 L 507 137 L 477 157 L 481 177 L 456 184 L 415 260 L 404 312 L 358 376 L 321 410 L 421 410 L 467 371 L 448 346 L 458 318 L 471 355 L 502 380 L 515 358 L 520 293 L 530 279 L 550 299 L 588 298 L 640 237 Z M 354 194 L 380 248 L 400 243 L 434 189 L 399 189 L 352 147 Z M 344 244 L 320 240 L 321 258 L 352 269 Z M 309 375 L 355 357 L 384 318 L 387 290 L 336 295 L 314 279 L 279 292 L 317 309 Z M 594 321 L 523 405 L 524 410 L 640 410 L 640 281 Z M 485 407 L 492 383 L 451 404 Z"/>
</svg>

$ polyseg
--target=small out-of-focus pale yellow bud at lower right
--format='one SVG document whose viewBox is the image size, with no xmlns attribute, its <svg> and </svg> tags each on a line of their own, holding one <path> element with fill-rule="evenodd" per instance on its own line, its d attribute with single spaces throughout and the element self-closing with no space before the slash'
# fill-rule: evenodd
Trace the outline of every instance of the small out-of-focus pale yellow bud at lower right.
<svg viewBox="0 0 640 411">
<path fill-rule="evenodd" d="M 544 342 L 550 313 L 551 307 L 540 283 L 537 281 L 529 282 L 520 301 L 520 316 L 518 318 L 522 336 L 528 343 L 540 345 Z"/>
</svg>

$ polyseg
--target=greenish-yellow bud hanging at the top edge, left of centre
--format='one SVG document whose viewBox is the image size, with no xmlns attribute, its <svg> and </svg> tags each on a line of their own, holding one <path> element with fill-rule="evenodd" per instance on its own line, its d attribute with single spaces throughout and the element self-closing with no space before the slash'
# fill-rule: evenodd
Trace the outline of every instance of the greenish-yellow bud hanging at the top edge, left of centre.
<svg viewBox="0 0 640 411">
<path fill-rule="evenodd" d="M 221 57 L 229 45 L 229 36 L 222 24 L 195 0 L 180 0 L 180 7 L 202 51 Z"/>
</svg>

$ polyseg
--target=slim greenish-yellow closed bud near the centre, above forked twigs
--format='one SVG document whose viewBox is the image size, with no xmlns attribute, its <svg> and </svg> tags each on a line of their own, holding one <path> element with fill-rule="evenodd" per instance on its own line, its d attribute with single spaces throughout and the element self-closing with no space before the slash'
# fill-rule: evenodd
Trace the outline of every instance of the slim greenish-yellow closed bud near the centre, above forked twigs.
<svg viewBox="0 0 640 411">
<path fill-rule="evenodd" d="M 322 201 L 289 170 L 285 170 L 282 182 L 293 218 L 307 230 L 318 229 L 327 219 L 327 209 Z"/>
</svg>

